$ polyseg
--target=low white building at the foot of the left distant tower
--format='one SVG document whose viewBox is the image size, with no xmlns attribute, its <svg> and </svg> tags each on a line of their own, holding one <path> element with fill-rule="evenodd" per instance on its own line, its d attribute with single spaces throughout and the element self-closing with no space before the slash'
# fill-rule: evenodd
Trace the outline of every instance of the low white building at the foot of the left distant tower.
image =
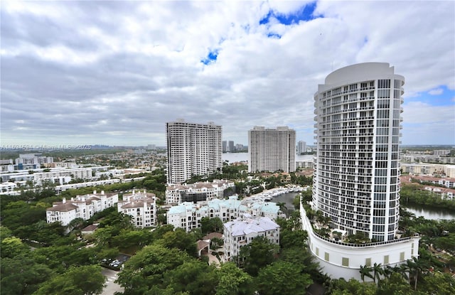
<svg viewBox="0 0 455 295">
<path fill-rule="evenodd" d="M 213 182 L 198 182 L 193 184 L 171 184 L 166 187 L 166 203 L 178 204 L 182 202 L 195 202 L 224 198 L 225 191 L 230 188 L 226 196 L 235 193 L 235 183 L 227 180 Z"/>
</svg>

